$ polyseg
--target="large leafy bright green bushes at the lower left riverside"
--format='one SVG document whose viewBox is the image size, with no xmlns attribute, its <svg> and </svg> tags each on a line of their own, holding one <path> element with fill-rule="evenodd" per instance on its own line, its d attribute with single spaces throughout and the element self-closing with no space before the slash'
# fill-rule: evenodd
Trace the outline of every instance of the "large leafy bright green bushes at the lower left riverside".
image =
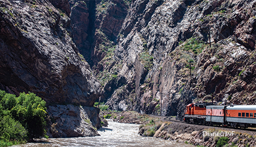
<svg viewBox="0 0 256 147">
<path fill-rule="evenodd" d="M 43 137 L 46 133 L 45 104 L 33 93 L 21 93 L 16 97 L 0 90 L 1 142 L 24 142 Z"/>
</svg>

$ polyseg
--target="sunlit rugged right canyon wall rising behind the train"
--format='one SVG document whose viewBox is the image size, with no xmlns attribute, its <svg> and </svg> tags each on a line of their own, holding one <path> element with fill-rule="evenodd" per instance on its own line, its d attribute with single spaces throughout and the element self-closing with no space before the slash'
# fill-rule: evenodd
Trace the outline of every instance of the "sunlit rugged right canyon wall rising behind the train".
<svg viewBox="0 0 256 147">
<path fill-rule="evenodd" d="M 115 1 L 103 2 L 96 13 L 110 14 Z M 100 101 L 113 110 L 178 114 L 178 119 L 190 102 L 255 104 L 255 4 L 126 2 L 129 10 L 113 42 L 106 31 L 111 27 L 96 19 L 103 50 L 97 50 L 97 41 L 92 45 L 91 66 L 102 86 Z"/>
</svg>

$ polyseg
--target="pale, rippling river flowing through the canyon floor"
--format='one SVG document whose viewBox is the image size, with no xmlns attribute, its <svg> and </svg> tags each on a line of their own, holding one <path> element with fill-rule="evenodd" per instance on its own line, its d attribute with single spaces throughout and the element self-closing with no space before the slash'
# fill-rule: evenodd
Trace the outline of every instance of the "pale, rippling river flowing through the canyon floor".
<svg viewBox="0 0 256 147">
<path fill-rule="evenodd" d="M 78 138 L 49 138 L 45 143 L 27 143 L 16 146 L 193 146 L 154 137 L 138 135 L 137 124 L 122 124 L 108 120 L 108 127 L 97 130 L 101 136 Z"/>
</svg>

